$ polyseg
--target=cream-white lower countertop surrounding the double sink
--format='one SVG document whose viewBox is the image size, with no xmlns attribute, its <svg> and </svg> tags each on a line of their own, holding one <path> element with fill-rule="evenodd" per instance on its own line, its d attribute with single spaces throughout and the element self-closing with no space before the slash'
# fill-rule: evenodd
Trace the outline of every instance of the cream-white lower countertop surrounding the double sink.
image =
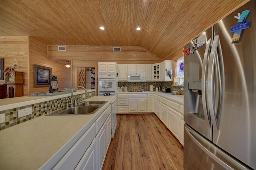
<svg viewBox="0 0 256 170">
<path fill-rule="evenodd" d="M 52 97 L 48 97 L 48 100 L 52 100 Z M 43 115 L 0 131 L 0 169 L 39 169 L 78 131 L 88 129 L 115 97 L 94 96 L 86 99 L 108 101 L 94 115 Z"/>
</svg>

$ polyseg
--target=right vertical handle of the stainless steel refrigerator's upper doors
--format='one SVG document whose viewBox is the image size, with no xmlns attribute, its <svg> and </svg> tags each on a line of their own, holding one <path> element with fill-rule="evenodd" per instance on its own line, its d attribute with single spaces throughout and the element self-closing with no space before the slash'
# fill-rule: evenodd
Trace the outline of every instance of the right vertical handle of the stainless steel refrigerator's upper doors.
<svg viewBox="0 0 256 170">
<path fill-rule="evenodd" d="M 218 54 L 220 55 L 219 60 L 216 57 L 217 55 L 217 50 L 218 50 Z M 217 70 L 218 71 L 217 71 Z M 219 127 L 218 127 L 218 121 L 217 121 L 217 117 L 216 117 L 216 112 L 220 111 L 222 108 L 222 97 L 223 97 L 223 90 L 222 88 L 224 87 L 223 83 L 224 83 L 224 75 L 222 74 L 222 70 L 224 70 L 224 66 L 223 66 L 223 57 L 222 57 L 222 50 L 221 50 L 221 46 L 220 46 L 220 39 L 219 36 L 216 35 L 214 37 L 214 41 L 212 43 L 212 50 L 210 53 L 210 61 L 209 61 L 209 67 L 208 67 L 208 75 L 207 75 L 207 96 L 208 96 L 208 104 L 209 104 L 209 110 L 210 110 L 210 116 L 211 116 L 211 120 L 212 120 L 212 127 L 214 131 L 218 131 Z M 215 72 L 214 72 L 215 71 Z M 215 74 L 219 74 L 219 100 L 216 101 L 215 97 L 216 97 L 216 87 L 214 86 L 215 80 L 214 76 L 216 77 Z M 222 75 L 220 75 L 222 74 Z M 216 103 L 218 102 L 218 110 L 217 108 L 214 106 L 216 105 Z"/>
</svg>

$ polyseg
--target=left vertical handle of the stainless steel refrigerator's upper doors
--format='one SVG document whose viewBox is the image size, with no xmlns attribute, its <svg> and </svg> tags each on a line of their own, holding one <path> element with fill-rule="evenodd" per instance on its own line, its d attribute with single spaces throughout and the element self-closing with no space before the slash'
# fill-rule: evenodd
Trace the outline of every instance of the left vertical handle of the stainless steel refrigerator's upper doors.
<svg viewBox="0 0 256 170">
<path fill-rule="evenodd" d="M 204 51 L 204 61 L 202 67 L 202 105 L 204 110 L 204 121 L 208 127 L 211 127 L 211 121 L 209 116 L 209 110 L 207 106 L 207 98 L 206 98 L 206 75 L 208 68 L 208 61 L 210 56 L 210 51 L 212 47 L 212 39 L 210 38 L 206 43 L 206 49 Z"/>
</svg>

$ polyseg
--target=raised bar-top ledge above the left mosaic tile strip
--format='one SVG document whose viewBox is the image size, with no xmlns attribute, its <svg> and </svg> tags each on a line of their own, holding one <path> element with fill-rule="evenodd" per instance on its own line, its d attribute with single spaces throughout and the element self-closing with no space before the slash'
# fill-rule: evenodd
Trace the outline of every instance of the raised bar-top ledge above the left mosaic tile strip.
<svg viewBox="0 0 256 170">
<path fill-rule="evenodd" d="M 87 93 L 94 92 L 94 90 L 87 90 Z M 73 95 L 83 94 L 85 93 L 84 90 L 77 90 L 73 93 Z M 70 93 L 66 94 L 60 94 L 56 96 L 22 96 L 22 97 L 16 97 L 16 98 L 6 98 L 6 99 L 0 99 L 0 111 L 7 110 L 7 109 L 13 109 L 17 107 L 27 106 L 30 104 L 36 104 L 40 102 L 46 102 L 49 100 L 59 99 L 71 96 Z"/>
</svg>

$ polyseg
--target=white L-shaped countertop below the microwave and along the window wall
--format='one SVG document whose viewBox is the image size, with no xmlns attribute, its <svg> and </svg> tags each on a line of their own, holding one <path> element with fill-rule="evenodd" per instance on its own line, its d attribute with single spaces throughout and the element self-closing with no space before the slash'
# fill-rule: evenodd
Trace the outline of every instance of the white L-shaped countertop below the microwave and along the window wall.
<svg viewBox="0 0 256 170">
<path fill-rule="evenodd" d="M 184 104 L 184 95 L 172 95 L 172 93 L 164 93 L 159 91 L 146 91 L 146 92 L 116 92 L 116 94 L 156 94 L 170 100 L 174 100 L 180 104 Z"/>
</svg>

